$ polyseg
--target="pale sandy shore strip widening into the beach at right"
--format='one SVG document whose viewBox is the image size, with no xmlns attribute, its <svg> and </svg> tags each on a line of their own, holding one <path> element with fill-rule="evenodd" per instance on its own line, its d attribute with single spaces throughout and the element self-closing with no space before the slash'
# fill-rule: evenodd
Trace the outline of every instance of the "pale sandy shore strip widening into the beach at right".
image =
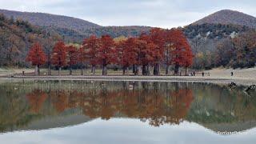
<svg viewBox="0 0 256 144">
<path fill-rule="evenodd" d="M 231 77 L 231 71 L 234 76 Z M 36 80 L 98 80 L 98 81 L 147 81 L 147 82 L 236 82 L 242 85 L 256 84 L 256 68 L 232 70 L 232 69 L 214 69 L 206 70 L 204 77 L 198 73 L 196 76 L 123 76 L 123 75 L 72 75 L 72 76 L 20 76 L 13 78 L 2 77 L 5 79 L 36 79 Z"/>
</svg>

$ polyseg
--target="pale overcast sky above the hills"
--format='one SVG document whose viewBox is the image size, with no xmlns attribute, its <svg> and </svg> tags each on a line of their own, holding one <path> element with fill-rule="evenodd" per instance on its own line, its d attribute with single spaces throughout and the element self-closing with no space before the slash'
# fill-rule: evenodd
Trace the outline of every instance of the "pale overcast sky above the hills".
<svg viewBox="0 0 256 144">
<path fill-rule="evenodd" d="M 256 16 L 255 0 L 0 0 L 0 9 L 62 14 L 101 26 L 186 26 L 215 11 Z"/>
</svg>

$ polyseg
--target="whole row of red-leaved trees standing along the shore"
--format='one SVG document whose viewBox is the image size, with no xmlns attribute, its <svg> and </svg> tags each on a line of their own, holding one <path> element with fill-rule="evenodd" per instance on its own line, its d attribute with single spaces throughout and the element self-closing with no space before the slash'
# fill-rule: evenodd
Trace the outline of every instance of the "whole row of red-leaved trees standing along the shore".
<svg viewBox="0 0 256 144">
<path fill-rule="evenodd" d="M 174 74 L 179 74 L 180 67 L 187 69 L 192 65 L 193 54 L 190 44 L 182 30 L 162 30 L 154 28 L 149 34 L 142 33 L 136 38 L 101 38 L 90 36 L 85 38 L 82 46 L 66 45 L 56 42 L 53 50 L 46 54 L 40 42 L 35 42 L 27 54 L 26 61 L 35 66 L 35 75 L 40 74 L 39 68 L 47 65 L 50 75 L 51 66 L 58 67 L 58 74 L 63 67 L 70 69 L 79 66 L 81 74 L 89 64 L 91 73 L 96 74 L 96 67 L 102 67 L 102 75 L 107 74 L 107 67 L 122 67 L 123 74 L 129 74 L 132 68 L 135 75 L 160 75 L 161 66 L 165 66 L 166 74 L 170 74 L 170 66 Z"/>
</svg>

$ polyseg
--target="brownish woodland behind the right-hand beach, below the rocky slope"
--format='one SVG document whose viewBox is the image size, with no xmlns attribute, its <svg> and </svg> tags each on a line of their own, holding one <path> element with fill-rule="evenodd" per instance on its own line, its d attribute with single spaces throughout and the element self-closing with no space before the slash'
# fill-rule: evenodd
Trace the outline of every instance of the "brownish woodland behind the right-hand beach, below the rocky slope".
<svg viewBox="0 0 256 144">
<path fill-rule="evenodd" d="M 256 66 L 256 31 L 246 30 L 233 37 L 226 37 L 208 43 L 196 41 L 194 47 L 202 49 L 194 52 L 193 68 L 197 70 L 212 69 L 214 67 L 250 68 Z M 212 50 L 209 50 L 212 47 Z M 208 49 L 208 50 L 207 50 Z"/>
</svg>

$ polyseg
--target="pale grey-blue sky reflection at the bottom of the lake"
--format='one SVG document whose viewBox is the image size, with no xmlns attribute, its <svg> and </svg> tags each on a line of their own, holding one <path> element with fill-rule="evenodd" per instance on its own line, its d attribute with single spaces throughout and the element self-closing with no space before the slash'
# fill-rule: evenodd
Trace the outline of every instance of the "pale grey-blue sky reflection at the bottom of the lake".
<svg viewBox="0 0 256 144">
<path fill-rule="evenodd" d="M 20 131 L 0 135 L 11 143 L 254 143 L 256 128 L 248 134 L 219 135 L 194 122 L 154 127 L 138 119 L 96 119 L 78 126 L 41 131 Z"/>
</svg>

